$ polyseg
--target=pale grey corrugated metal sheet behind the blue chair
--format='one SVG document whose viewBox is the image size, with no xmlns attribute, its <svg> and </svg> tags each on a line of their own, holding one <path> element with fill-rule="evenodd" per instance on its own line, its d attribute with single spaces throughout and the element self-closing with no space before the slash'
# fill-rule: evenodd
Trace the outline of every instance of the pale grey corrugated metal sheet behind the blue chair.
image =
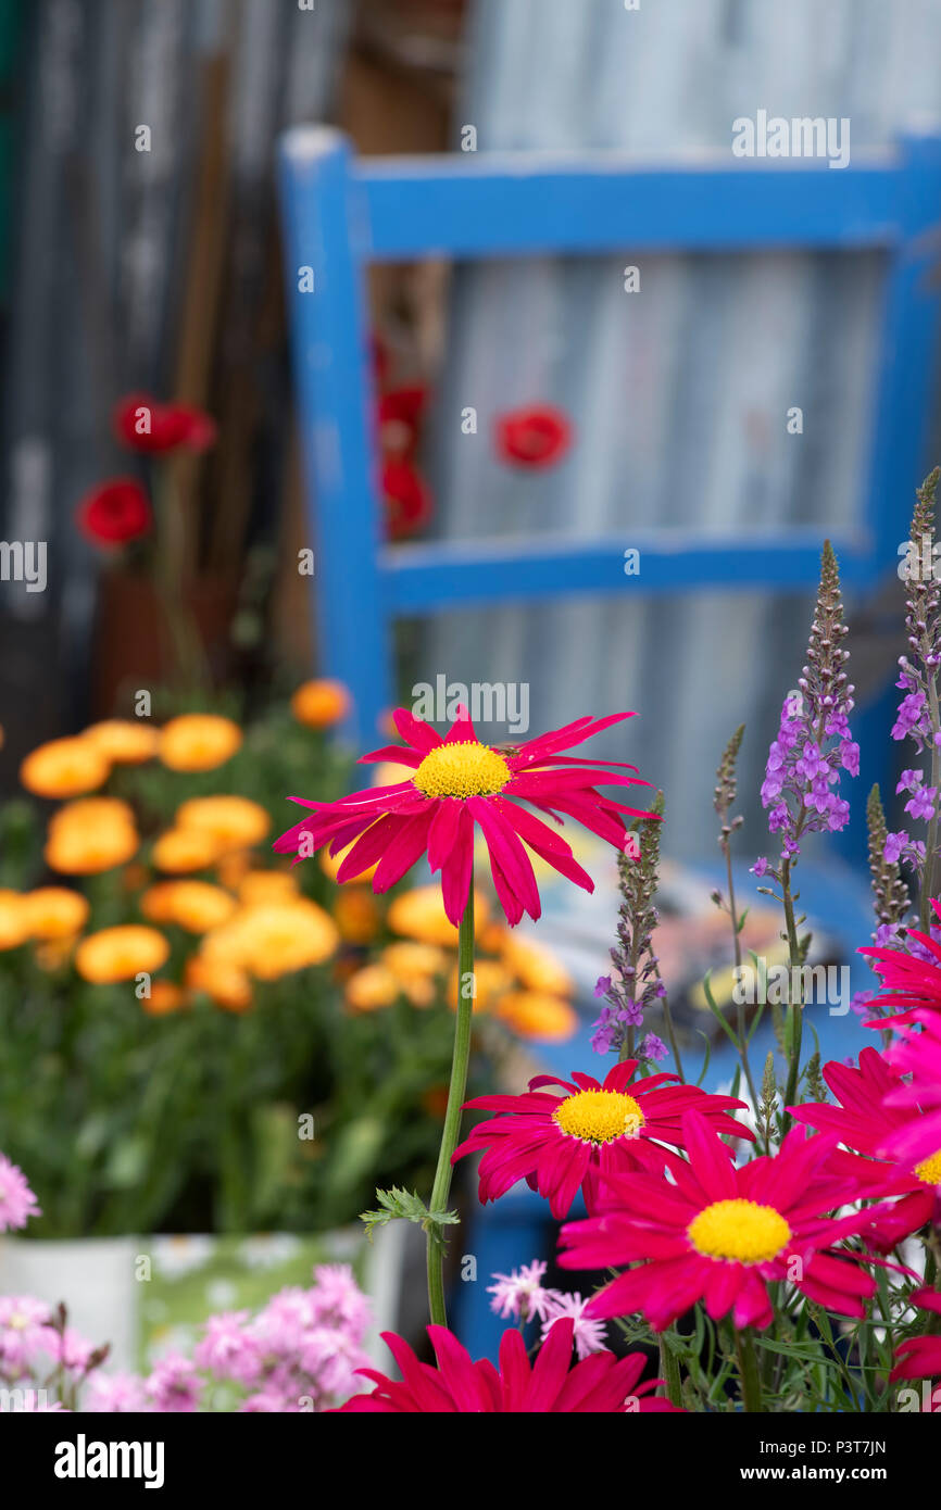
<svg viewBox="0 0 941 1510">
<path fill-rule="evenodd" d="M 936 122 L 935 0 L 480 0 L 462 121 L 479 149 L 730 148 L 736 116 L 849 116 L 853 149 Z M 875 255 L 645 257 L 462 269 L 438 412 L 449 536 L 619 535 L 665 524 L 828 528 L 861 503 L 879 337 Z M 548 473 L 495 459 L 500 411 L 562 405 L 577 447 Z M 459 432 L 465 405 L 477 436 Z M 787 433 L 787 409 L 804 433 Z M 911 500 L 887 500 L 905 536 Z M 887 571 L 896 562 L 887 562 Z M 621 569 L 612 562 L 612 571 Z M 642 568 L 640 568 L 642 571 Z M 430 625 L 420 676 L 529 681 L 533 729 L 633 707 L 627 735 L 668 793 L 668 847 L 708 855 L 714 766 L 749 725 L 754 791 L 810 602 L 743 592 L 468 613 Z M 494 731 L 495 734 L 495 731 Z M 600 743 L 600 741 L 598 741 Z M 607 749 L 615 740 L 609 737 Z M 758 815 L 752 809 L 752 815 Z M 764 847 L 760 821 L 751 844 Z"/>
</svg>

